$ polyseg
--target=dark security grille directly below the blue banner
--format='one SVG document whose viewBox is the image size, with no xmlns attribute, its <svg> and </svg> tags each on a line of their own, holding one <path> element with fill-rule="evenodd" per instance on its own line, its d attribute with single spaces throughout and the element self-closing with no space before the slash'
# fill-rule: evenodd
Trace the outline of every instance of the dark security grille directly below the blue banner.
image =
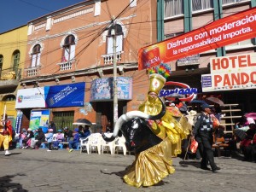
<svg viewBox="0 0 256 192">
<path fill-rule="evenodd" d="M 63 129 L 67 126 L 69 129 L 73 129 L 73 122 L 74 122 L 74 112 L 67 111 L 67 112 L 54 112 L 53 121 L 55 122 L 57 129 Z"/>
</svg>

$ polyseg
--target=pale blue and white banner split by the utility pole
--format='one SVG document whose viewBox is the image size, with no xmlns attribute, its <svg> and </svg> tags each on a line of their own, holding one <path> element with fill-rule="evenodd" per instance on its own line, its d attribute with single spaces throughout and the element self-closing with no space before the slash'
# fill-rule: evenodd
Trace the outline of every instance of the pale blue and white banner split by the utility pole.
<svg viewBox="0 0 256 192">
<path fill-rule="evenodd" d="M 118 99 L 131 100 L 132 79 L 117 78 Z M 113 78 L 95 79 L 91 82 L 90 102 L 113 100 Z"/>
</svg>

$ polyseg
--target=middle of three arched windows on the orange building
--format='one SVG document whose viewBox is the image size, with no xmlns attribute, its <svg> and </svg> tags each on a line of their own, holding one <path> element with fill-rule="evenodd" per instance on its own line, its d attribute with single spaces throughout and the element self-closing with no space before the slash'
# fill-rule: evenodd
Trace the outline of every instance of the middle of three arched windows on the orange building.
<svg viewBox="0 0 256 192">
<path fill-rule="evenodd" d="M 61 62 L 72 61 L 75 57 L 75 37 L 68 35 L 63 44 L 63 55 Z"/>
</svg>

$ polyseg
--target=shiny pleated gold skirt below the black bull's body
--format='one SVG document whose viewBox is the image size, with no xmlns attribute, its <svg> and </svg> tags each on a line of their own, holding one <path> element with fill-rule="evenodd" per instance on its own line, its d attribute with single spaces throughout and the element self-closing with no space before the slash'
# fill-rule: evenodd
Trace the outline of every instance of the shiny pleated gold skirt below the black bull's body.
<svg viewBox="0 0 256 192">
<path fill-rule="evenodd" d="M 135 187 L 151 186 L 175 172 L 172 167 L 172 142 L 166 137 L 161 143 L 137 155 L 126 169 L 125 183 Z"/>
</svg>

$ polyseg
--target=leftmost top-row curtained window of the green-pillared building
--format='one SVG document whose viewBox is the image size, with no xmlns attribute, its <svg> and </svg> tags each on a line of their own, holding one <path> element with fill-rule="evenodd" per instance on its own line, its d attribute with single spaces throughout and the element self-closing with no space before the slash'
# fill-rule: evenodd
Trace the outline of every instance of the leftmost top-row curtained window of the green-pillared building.
<svg viewBox="0 0 256 192">
<path fill-rule="evenodd" d="M 165 0 L 165 18 L 183 15 L 183 0 Z"/>
</svg>

